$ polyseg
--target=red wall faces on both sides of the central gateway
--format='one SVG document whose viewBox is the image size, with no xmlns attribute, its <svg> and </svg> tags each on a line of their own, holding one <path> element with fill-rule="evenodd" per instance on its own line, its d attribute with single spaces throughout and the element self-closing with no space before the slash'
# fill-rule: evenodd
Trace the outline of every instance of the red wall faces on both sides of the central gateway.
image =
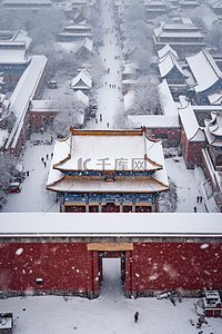
<svg viewBox="0 0 222 334">
<path fill-rule="evenodd" d="M 0 291 L 99 291 L 98 252 L 87 243 L 9 243 L 0 252 Z M 222 289 L 221 277 L 220 243 L 138 243 L 125 252 L 129 292 Z"/>
</svg>

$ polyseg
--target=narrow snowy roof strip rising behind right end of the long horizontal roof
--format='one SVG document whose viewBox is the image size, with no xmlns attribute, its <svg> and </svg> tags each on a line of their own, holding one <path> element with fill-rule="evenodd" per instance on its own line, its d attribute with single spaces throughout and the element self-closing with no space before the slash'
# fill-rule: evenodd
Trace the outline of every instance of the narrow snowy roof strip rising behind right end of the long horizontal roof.
<svg viewBox="0 0 222 334">
<path fill-rule="evenodd" d="M 178 107 L 173 101 L 170 88 L 165 79 L 158 86 L 158 89 L 164 115 L 178 117 Z"/>
</svg>

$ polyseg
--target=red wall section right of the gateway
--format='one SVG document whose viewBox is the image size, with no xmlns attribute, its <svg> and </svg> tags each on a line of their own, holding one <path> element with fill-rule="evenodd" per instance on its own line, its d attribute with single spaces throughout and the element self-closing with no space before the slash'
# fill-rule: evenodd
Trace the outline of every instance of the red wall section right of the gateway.
<svg viewBox="0 0 222 334">
<path fill-rule="evenodd" d="M 205 247 L 206 246 L 206 247 Z M 133 245 L 132 287 L 222 289 L 222 244 L 148 243 Z"/>
</svg>

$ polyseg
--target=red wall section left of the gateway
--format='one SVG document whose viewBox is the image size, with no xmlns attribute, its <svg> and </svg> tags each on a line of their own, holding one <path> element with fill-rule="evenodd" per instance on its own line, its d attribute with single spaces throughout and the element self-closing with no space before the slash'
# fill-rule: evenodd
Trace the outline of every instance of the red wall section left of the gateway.
<svg viewBox="0 0 222 334">
<path fill-rule="evenodd" d="M 18 249 L 23 249 L 20 255 Z M 87 244 L 0 244 L 0 289 L 74 289 L 92 286 Z M 43 285 L 36 279 L 43 278 Z"/>
</svg>

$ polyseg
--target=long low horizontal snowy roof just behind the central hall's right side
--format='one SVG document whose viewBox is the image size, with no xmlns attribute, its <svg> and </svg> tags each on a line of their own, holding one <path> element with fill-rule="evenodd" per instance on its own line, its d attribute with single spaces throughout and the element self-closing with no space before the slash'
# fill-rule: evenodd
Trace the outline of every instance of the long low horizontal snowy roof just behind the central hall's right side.
<svg viewBox="0 0 222 334">
<path fill-rule="evenodd" d="M 133 127 L 147 128 L 178 128 L 179 117 L 167 115 L 128 115 L 127 120 Z"/>
</svg>

